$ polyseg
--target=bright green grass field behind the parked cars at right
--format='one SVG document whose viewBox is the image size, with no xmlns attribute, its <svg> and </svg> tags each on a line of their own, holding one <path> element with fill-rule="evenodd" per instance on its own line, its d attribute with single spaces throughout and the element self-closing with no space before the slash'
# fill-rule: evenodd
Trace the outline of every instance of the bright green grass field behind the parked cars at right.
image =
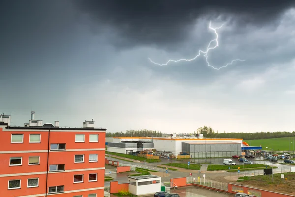
<svg viewBox="0 0 295 197">
<path fill-rule="evenodd" d="M 290 141 L 289 141 L 290 140 Z M 272 148 L 274 151 L 292 151 L 294 150 L 293 138 L 282 137 L 282 138 L 273 138 L 273 139 L 255 139 L 255 140 L 244 140 L 249 144 L 249 146 L 260 146 L 263 150 L 266 150 L 266 147 Z M 294 144 L 295 145 L 295 144 Z M 269 149 L 270 150 L 270 149 Z"/>
</svg>

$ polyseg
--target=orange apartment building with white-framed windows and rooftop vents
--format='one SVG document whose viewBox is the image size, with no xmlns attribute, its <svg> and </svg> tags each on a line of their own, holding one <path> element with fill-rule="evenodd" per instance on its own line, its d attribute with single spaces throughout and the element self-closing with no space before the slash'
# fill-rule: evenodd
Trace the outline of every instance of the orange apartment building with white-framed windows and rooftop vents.
<svg viewBox="0 0 295 197">
<path fill-rule="evenodd" d="M 34 112 L 24 127 L 11 127 L 1 114 L 0 197 L 103 197 L 105 131 L 93 120 L 43 125 Z"/>
</svg>

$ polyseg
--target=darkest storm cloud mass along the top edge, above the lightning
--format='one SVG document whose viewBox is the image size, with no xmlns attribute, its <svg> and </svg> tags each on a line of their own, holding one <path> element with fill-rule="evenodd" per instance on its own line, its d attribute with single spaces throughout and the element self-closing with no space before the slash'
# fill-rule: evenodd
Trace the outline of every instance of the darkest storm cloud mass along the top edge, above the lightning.
<svg viewBox="0 0 295 197">
<path fill-rule="evenodd" d="M 79 0 L 75 4 L 98 29 L 100 24 L 114 28 L 120 35 L 117 45 L 130 45 L 181 41 L 202 16 L 231 15 L 239 24 L 275 23 L 295 0 Z"/>
</svg>

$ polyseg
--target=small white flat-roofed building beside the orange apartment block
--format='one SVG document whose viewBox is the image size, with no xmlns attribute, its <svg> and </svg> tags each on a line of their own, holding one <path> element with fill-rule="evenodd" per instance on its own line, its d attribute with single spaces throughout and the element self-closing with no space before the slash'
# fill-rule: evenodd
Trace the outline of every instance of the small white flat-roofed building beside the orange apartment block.
<svg viewBox="0 0 295 197">
<path fill-rule="evenodd" d="M 128 176 L 129 192 L 134 195 L 154 194 L 161 191 L 161 177 L 155 175 Z"/>
</svg>

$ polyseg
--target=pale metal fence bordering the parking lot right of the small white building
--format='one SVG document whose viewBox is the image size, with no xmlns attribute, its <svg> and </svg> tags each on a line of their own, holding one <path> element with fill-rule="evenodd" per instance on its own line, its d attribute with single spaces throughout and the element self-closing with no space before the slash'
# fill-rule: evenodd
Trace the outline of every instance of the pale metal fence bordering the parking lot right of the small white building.
<svg viewBox="0 0 295 197">
<path fill-rule="evenodd" d="M 195 180 L 194 180 L 195 179 Z M 198 185 L 203 185 L 209 188 L 215 188 L 218 190 L 228 191 L 228 184 L 219 182 L 219 181 L 212 181 L 206 178 L 194 178 L 192 176 L 186 177 L 186 183 L 195 183 Z"/>
</svg>

